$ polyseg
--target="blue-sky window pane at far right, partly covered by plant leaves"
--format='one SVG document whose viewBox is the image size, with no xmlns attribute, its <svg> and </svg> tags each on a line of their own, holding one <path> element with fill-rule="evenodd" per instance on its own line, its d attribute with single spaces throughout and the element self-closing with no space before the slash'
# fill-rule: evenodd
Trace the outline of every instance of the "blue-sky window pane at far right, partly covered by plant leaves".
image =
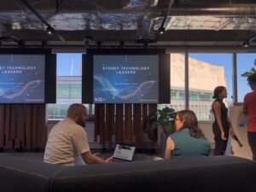
<svg viewBox="0 0 256 192">
<path fill-rule="evenodd" d="M 254 63 L 256 61 L 255 53 L 237 54 L 237 101 L 243 102 L 243 97 L 247 92 L 252 91 L 249 85 L 247 85 L 247 78 L 241 77 L 242 73 L 250 72 L 251 68 L 255 68 Z"/>
</svg>

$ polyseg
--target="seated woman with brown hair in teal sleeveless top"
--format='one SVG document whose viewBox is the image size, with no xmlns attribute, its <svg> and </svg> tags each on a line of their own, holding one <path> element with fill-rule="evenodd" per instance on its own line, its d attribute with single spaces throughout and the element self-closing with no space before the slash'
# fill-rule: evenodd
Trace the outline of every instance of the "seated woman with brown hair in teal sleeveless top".
<svg viewBox="0 0 256 192">
<path fill-rule="evenodd" d="M 177 112 L 176 131 L 166 140 L 165 159 L 207 156 L 210 143 L 198 127 L 195 113 L 191 110 Z"/>
</svg>

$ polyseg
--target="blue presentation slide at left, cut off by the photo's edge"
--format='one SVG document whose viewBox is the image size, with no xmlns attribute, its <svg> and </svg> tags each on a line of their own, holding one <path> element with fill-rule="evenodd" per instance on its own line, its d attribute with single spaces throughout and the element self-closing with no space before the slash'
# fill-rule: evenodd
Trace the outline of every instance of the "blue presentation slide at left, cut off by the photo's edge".
<svg viewBox="0 0 256 192">
<path fill-rule="evenodd" d="M 0 103 L 43 103 L 44 62 L 44 55 L 0 55 Z"/>
</svg>

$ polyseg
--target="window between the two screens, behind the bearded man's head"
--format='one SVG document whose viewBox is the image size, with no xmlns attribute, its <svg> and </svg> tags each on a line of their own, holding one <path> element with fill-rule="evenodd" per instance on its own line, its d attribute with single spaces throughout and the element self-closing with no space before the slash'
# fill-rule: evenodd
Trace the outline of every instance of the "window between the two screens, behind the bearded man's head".
<svg viewBox="0 0 256 192">
<path fill-rule="evenodd" d="M 81 103 L 81 67 L 82 54 L 57 54 L 56 104 L 48 104 L 48 119 L 64 119 L 70 104 Z"/>
</svg>

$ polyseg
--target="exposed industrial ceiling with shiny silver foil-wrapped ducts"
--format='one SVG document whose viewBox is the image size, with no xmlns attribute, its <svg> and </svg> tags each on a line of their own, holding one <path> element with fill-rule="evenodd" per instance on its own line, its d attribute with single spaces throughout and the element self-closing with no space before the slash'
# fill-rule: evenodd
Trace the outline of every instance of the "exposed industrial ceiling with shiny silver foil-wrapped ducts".
<svg viewBox="0 0 256 192">
<path fill-rule="evenodd" d="M 25 45 L 83 46 L 90 37 L 102 46 L 230 46 L 254 41 L 255 16 L 252 0 L 9 0 L 0 1 L 0 35 Z"/>
</svg>

